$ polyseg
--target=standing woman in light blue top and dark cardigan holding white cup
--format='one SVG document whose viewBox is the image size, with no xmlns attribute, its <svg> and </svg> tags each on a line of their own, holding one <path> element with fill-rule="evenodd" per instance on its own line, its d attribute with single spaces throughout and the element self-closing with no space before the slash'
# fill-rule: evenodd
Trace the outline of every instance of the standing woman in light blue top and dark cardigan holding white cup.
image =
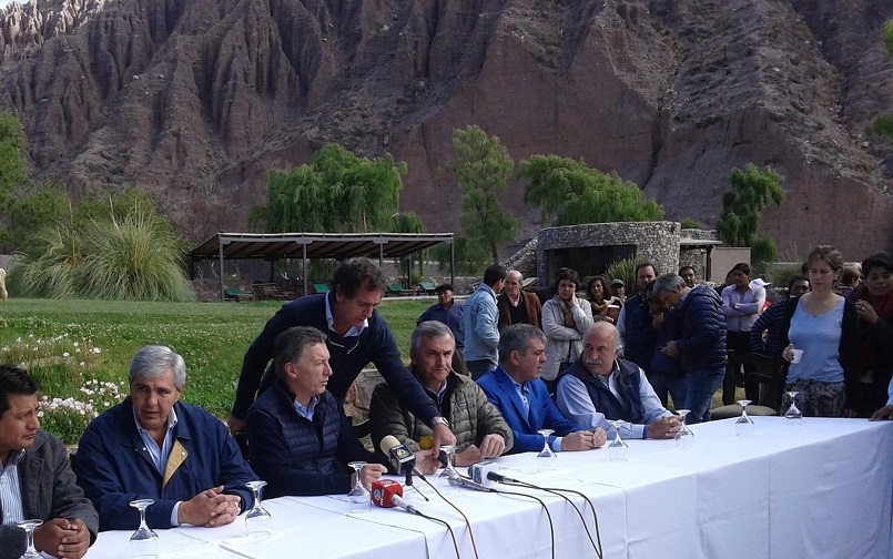
<svg viewBox="0 0 893 559">
<path fill-rule="evenodd" d="M 843 258 L 823 245 L 810 253 L 806 267 L 812 291 L 788 302 L 779 332 L 789 363 L 785 390 L 800 393 L 804 416 L 846 417 L 859 382 L 859 317 L 853 302 L 833 291 Z"/>
</svg>

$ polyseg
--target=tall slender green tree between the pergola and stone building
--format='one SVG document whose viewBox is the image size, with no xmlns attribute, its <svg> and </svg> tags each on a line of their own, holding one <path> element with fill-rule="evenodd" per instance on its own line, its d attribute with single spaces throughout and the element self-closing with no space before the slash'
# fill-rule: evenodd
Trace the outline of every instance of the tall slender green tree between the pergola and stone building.
<svg viewBox="0 0 893 559">
<path fill-rule="evenodd" d="M 461 246 L 484 247 L 493 263 L 499 262 L 499 246 L 515 241 L 518 220 L 499 203 L 508 190 L 515 162 L 497 136 L 488 136 L 480 126 L 453 131 L 453 160 L 444 167 L 463 193 Z M 457 251 L 459 243 L 456 245 Z M 464 257 L 480 253 L 469 250 Z"/>
</svg>

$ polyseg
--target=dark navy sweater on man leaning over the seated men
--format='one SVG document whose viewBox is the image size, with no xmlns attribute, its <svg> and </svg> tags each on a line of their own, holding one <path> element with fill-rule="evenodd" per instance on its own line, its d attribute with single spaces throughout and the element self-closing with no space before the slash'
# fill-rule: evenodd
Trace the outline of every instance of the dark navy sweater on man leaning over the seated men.
<svg viewBox="0 0 893 559">
<path fill-rule="evenodd" d="M 235 392 L 233 417 L 244 418 L 254 402 L 258 386 L 263 392 L 274 383 L 275 375 L 272 367 L 266 374 L 264 374 L 264 368 L 273 359 L 276 336 L 293 326 L 313 326 L 328 335 L 326 346 L 332 355 L 329 364 L 334 372 L 328 379 L 328 392 L 339 404 L 344 404 L 347 389 L 363 367 L 372 362 L 378 368 L 378 373 L 385 377 L 387 384 L 394 388 L 394 393 L 400 398 L 400 404 L 426 421 L 430 421 L 433 417 L 437 416 L 437 408 L 432 405 L 425 390 L 403 364 L 397 343 L 384 318 L 374 312 L 368 327 L 358 338 L 357 336 L 337 336 L 328 329 L 326 322 L 326 296 L 334 297 L 335 295 L 329 293 L 328 295 L 301 297 L 283 305 L 273 318 L 267 321 L 264 331 L 251 345 L 242 362 L 242 375 Z M 262 378 L 263 383 L 261 383 Z"/>
</svg>

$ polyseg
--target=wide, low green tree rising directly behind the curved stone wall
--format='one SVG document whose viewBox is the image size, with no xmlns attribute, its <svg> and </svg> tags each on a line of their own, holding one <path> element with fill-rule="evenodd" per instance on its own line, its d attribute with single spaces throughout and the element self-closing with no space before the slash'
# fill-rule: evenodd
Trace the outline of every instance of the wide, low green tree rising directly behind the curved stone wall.
<svg viewBox="0 0 893 559">
<path fill-rule="evenodd" d="M 635 183 L 589 167 L 582 160 L 534 155 L 521 161 L 518 174 L 530 181 L 524 202 L 541 207 L 542 225 L 663 218 L 663 209 L 653 200 L 642 201 Z"/>
</svg>

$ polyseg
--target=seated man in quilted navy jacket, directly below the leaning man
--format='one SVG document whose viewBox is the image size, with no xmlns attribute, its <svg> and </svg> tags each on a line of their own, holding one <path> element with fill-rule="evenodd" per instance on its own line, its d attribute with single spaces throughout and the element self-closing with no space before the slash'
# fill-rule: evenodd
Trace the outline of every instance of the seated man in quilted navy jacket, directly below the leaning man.
<svg viewBox="0 0 893 559">
<path fill-rule="evenodd" d="M 367 463 L 359 470 L 367 489 L 387 471 L 326 390 L 328 357 L 326 336 L 316 328 L 294 326 L 276 337 L 276 383 L 248 408 L 245 421 L 252 465 L 267 482 L 267 497 L 346 494 L 356 484 L 345 469 L 351 461 Z M 433 472 L 437 460 L 419 453 L 416 467 Z"/>
</svg>

